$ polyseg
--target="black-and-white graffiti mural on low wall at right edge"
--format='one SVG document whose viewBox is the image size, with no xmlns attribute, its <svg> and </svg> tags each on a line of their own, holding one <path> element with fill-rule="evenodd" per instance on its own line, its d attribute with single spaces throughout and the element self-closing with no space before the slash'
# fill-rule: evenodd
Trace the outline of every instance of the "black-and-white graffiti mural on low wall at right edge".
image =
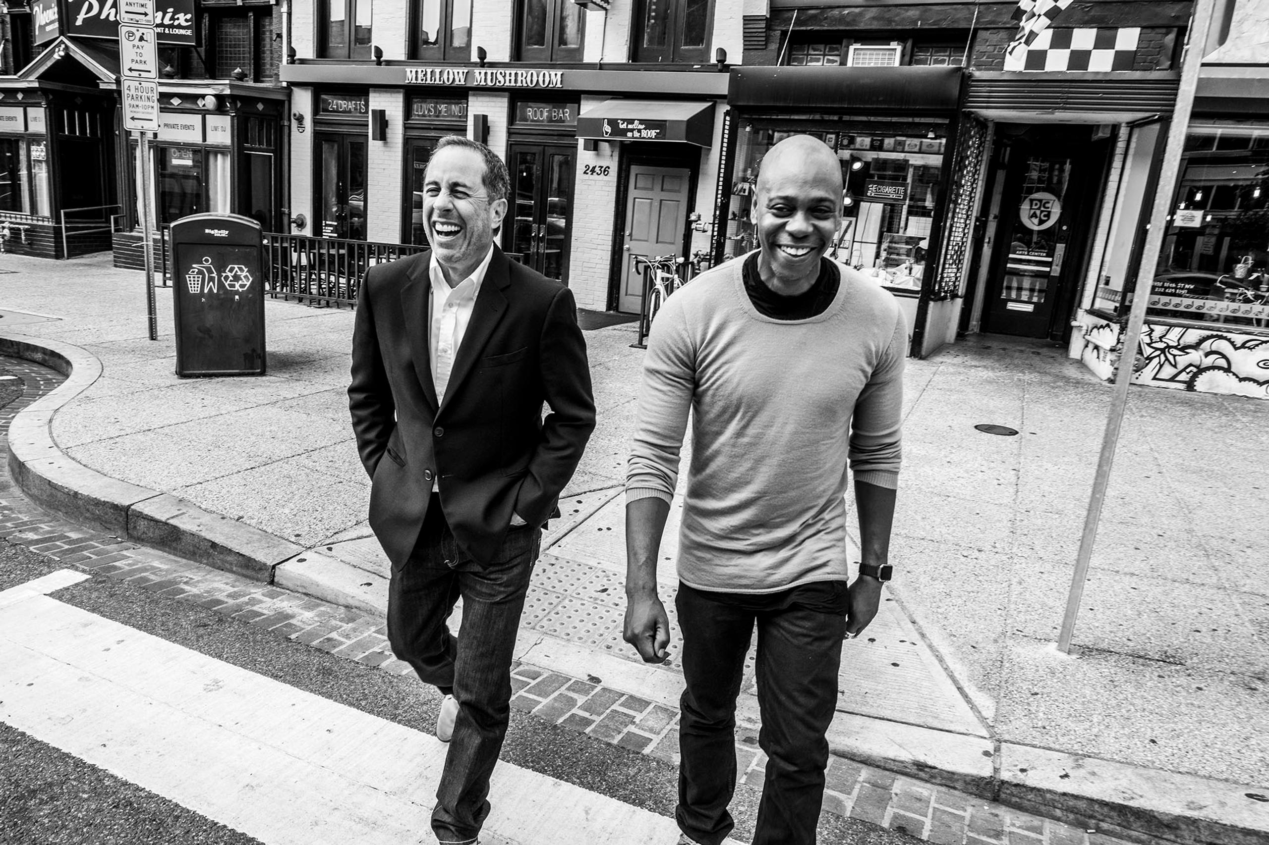
<svg viewBox="0 0 1269 845">
<path fill-rule="evenodd" d="M 1269 337 L 1147 324 L 1141 354 L 1138 384 L 1269 398 Z"/>
</svg>

